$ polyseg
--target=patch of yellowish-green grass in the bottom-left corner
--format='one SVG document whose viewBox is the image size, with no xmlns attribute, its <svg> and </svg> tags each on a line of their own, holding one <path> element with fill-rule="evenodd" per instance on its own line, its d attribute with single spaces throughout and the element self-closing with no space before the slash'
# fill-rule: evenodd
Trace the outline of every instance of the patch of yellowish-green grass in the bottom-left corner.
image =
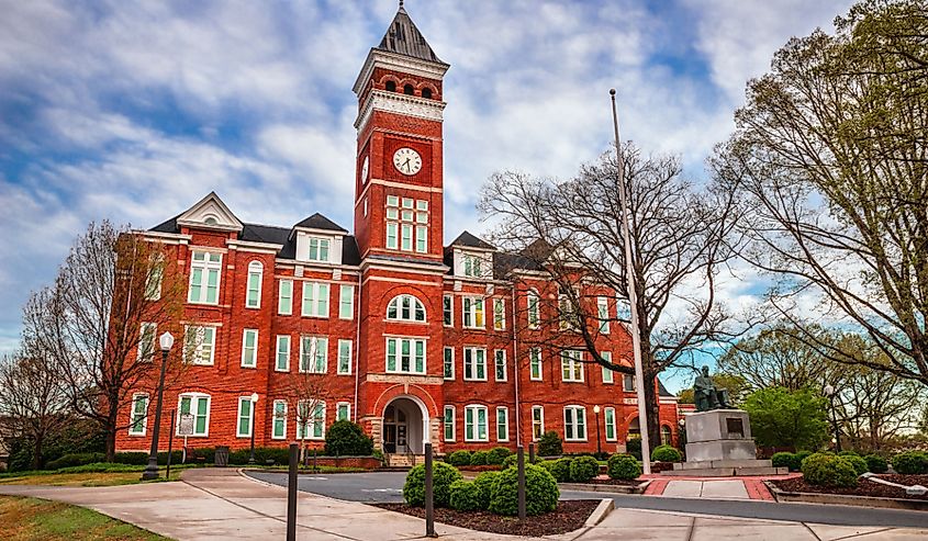
<svg viewBox="0 0 928 541">
<path fill-rule="evenodd" d="M 57 501 L 0 496 L 4 541 L 170 541 L 97 511 Z"/>
</svg>

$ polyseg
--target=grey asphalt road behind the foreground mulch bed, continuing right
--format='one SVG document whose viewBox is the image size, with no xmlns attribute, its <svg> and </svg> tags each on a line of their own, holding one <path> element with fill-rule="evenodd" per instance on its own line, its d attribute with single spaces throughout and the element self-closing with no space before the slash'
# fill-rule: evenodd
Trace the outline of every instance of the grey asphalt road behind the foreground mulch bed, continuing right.
<svg viewBox="0 0 928 541">
<path fill-rule="evenodd" d="M 287 485 L 286 473 L 247 472 L 256 480 L 280 486 Z M 403 500 L 404 472 L 301 474 L 300 491 L 362 503 L 395 503 Z M 815 504 L 779 504 L 753 500 L 712 500 L 668 498 L 638 495 L 612 495 L 615 506 L 627 509 L 682 511 L 725 517 L 789 520 L 838 526 L 892 526 L 901 528 L 928 527 L 928 512 L 899 509 L 873 509 Z M 561 499 L 601 499 L 605 493 L 561 492 Z"/>
</svg>

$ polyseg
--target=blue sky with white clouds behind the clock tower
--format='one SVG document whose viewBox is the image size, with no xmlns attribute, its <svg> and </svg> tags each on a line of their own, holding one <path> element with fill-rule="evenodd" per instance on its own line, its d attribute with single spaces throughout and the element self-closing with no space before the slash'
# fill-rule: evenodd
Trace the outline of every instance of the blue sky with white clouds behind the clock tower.
<svg viewBox="0 0 928 541">
<path fill-rule="evenodd" d="M 623 139 L 704 179 L 745 83 L 846 0 L 407 0 L 445 78 L 445 239 L 494 171 L 569 178 Z M 395 0 L 0 0 L 0 352 L 91 221 L 150 227 L 216 191 L 243 221 L 351 228 L 351 92 Z M 761 278 L 722 288 L 757 302 Z M 668 382 L 672 391 L 683 377 Z"/>
</svg>

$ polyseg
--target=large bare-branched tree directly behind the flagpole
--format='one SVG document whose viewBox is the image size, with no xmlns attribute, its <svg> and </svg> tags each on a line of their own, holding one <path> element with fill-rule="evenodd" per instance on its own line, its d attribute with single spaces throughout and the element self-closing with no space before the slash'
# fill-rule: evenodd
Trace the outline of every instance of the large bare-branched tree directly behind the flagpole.
<svg viewBox="0 0 928 541">
<path fill-rule="evenodd" d="M 623 159 L 644 375 L 655 382 L 668 368 L 692 367 L 695 352 L 730 336 L 715 293 L 738 244 L 739 207 L 733 192 L 700 190 L 684 180 L 675 157 L 642 156 L 627 144 Z M 630 359 L 611 361 L 597 347 L 607 324 L 624 323 L 613 309 L 601 312 L 597 298 L 607 291 L 624 297 L 628 291 L 616 167 L 611 151 L 568 181 L 496 173 L 483 187 L 479 207 L 499 219 L 491 238 L 514 255 L 515 267 L 536 268 L 548 282 L 548 291 L 539 292 L 545 333 L 528 333 L 529 342 L 556 349 L 580 343 L 590 362 L 634 373 Z M 529 286 L 530 280 L 518 285 L 519 295 Z M 518 319 L 525 324 L 528 317 Z M 649 436 L 660 441 L 655 385 L 646 386 L 645 398 Z"/>
</svg>

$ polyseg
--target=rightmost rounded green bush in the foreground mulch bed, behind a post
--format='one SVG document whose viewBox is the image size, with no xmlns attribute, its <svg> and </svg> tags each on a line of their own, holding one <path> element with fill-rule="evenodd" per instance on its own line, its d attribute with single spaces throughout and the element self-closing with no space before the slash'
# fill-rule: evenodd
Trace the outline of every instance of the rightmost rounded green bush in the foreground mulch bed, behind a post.
<svg viewBox="0 0 928 541">
<path fill-rule="evenodd" d="M 499 473 L 490 496 L 490 511 L 514 516 L 518 512 L 518 471 L 515 467 Z M 558 505 L 558 484 L 544 467 L 525 465 L 525 511 L 529 516 L 555 510 Z"/>
</svg>

